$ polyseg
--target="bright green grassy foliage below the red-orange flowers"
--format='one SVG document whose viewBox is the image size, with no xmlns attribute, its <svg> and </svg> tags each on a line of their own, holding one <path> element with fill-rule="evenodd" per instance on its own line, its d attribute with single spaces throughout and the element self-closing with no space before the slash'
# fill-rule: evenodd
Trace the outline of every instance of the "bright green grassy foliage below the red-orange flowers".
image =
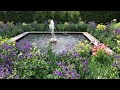
<svg viewBox="0 0 120 90">
<path fill-rule="evenodd" d="M 91 59 L 89 63 L 89 76 L 91 79 L 118 79 L 118 71 L 115 67 L 109 65 L 103 65 L 96 61 L 97 59 Z"/>
</svg>

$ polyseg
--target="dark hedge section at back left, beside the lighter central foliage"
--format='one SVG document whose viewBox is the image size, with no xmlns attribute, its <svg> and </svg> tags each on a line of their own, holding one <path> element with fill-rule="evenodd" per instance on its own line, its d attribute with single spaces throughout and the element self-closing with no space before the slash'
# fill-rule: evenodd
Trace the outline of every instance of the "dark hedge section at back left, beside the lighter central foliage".
<svg viewBox="0 0 120 90">
<path fill-rule="evenodd" d="M 35 11 L 0 11 L 0 21 L 32 22 Z"/>
</svg>

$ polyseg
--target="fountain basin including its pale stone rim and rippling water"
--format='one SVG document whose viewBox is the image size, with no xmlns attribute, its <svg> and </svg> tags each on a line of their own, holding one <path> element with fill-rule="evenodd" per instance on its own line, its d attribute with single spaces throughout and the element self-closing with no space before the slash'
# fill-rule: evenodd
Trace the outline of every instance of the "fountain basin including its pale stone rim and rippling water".
<svg viewBox="0 0 120 90">
<path fill-rule="evenodd" d="M 12 41 L 19 42 L 21 40 L 28 40 L 31 43 L 36 43 L 36 46 L 42 49 L 43 52 L 51 42 L 53 52 L 59 53 L 66 49 L 66 45 L 74 45 L 77 41 L 87 40 L 92 42 L 93 45 L 98 44 L 100 41 L 87 32 L 55 32 L 56 38 L 51 38 L 50 32 L 24 32 L 12 38 Z M 53 44 L 52 44 L 53 43 Z M 109 48 L 107 48 L 110 52 Z"/>
</svg>

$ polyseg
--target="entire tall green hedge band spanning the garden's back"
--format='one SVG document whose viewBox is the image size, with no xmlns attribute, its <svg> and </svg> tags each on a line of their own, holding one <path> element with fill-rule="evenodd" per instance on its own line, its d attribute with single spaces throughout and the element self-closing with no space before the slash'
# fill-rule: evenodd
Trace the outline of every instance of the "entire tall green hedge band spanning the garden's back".
<svg viewBox="0 0 120 90">
<path fill-rule="evenodd" d="M 34 20 L 39 23 L 54 19 L 57 23 L 83 21 L 96 21 L 97 23 L 110 22 L 116 18 L 120 21 L 119 11 L 0 11 L 0 20 L 4 22 L 27 22 Z"/>
</svg>

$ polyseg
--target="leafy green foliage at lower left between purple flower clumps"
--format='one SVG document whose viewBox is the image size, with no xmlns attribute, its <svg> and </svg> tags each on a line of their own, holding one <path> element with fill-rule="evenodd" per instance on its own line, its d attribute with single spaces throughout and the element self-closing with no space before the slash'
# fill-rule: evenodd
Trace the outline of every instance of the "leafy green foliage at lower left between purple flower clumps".
<svg viewBox="0 0 120 90">
<path fill-rule="evenodd" d="M 34 57 L 16 62 L 14 68 L 21 79 L 42 79 L 46 78 L 49 66 L 44 60 L 38 60 Z"/>
</svg>

